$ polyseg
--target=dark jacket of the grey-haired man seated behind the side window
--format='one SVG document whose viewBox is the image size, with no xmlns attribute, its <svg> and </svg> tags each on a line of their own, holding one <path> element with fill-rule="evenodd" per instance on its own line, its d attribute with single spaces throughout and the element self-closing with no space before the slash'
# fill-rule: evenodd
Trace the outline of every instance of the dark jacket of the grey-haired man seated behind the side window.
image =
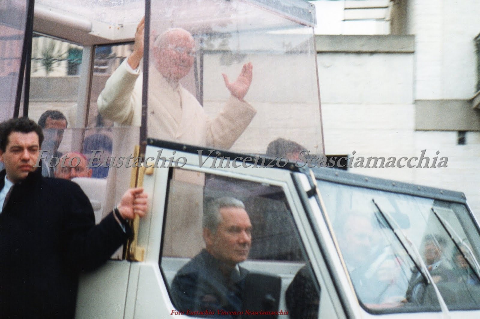
<svg viewBox="0 0 480 319">
<path fill-rule="evenodd" d="M 221 315 L 222 318 L 238 318 L 235 312 L 243 308 L 242 291 L 248 270 L 240 267 L 240 273 L 233 269 L 225 274 L 220 270 L 222 264 L 202 250 L 180 268 L 170 288 L 175 307 L 197 317 L 216 317 L 218 311 L 225 310 L 233 314 Z"/>
</svg>

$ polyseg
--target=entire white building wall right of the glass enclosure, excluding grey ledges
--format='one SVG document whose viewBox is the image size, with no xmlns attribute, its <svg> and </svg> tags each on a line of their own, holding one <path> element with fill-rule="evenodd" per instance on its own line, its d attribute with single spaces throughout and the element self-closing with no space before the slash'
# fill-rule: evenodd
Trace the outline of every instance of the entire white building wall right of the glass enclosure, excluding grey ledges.
<svg viewBox="0 0 480 319">
<path fill-rule="evenodd" d="M 456 131 L 420 131 L 415 127 L 416 100 L 473 97 L 480 2 L 408 0 L 406 8 L 410 18 L 405 19 L 405 29 L 415 35 L 414 53 L 317 55 L 326 154 L 352 156 L 356 151 L 356 158 L 420 157 L 421 150 L 426 149 L 431 160 L 447 157 L 446 168 L 349 171 L 464 192 L 480 219 L 480 132 L 469 131 L 466 145 L 457 145 Z"/>
</svg>

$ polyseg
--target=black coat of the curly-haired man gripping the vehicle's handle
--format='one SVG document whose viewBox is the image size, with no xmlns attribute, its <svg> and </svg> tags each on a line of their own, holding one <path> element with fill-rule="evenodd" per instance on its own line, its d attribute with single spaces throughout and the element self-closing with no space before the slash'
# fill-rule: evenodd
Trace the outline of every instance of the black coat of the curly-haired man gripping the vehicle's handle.
<svg viewBox="0 0 480 319">
<path fill-rule="evenodd" d="M 0 214 L 0 318 L 73 318 L 79 273 L 107 261 L 126 237 L 113 214 L 95 226 L 80 186 L 30 173 Z"/>
</svg>

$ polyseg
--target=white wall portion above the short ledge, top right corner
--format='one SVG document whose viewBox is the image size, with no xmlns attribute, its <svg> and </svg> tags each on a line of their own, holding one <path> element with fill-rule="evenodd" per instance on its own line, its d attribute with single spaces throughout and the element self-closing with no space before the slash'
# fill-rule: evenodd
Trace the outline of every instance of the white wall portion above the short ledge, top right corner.
<svg viewBox="0 0 480 319">
<path fill-rule="evenodd" d="M 473 39 L 480 3 L 414 0 L 416 99 L 470 99 L 475 93 Z"/>
</svg>

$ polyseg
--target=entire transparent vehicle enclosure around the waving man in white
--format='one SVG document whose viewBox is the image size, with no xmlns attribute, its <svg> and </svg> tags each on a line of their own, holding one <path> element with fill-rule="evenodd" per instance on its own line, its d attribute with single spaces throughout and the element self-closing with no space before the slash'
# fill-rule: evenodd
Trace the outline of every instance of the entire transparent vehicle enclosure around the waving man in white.
<svg viewBox="0 0 480 319">
<path fill-rule="evenodd" d="M 149 58 L 131 66 L 144 0 L 36 0 L 29 116 L 56 114 L 44 123 L 45 162 L 82 153 L 90 178 L 107 177 L 107 193 L 121 194 L 130 167 L 118 159 L 139 144 L 142 94 L 147 137 L 291 160 L 324 153 L 312 4 L 151 2 Z M 297 248 L 288 258 L 298 260 Z"/>
</svg>

